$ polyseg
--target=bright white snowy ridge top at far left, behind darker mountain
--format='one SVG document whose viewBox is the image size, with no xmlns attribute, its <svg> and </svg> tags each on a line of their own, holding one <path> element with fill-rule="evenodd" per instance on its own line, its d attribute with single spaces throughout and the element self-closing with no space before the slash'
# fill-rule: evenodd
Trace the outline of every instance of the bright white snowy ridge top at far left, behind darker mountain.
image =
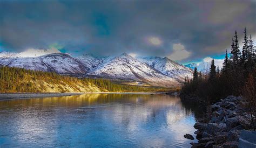
<svg viewBox="0 0 256 148">
<path fill-rule="evenodd" d="M 0 52 L 0 58 L 26 58 L 26 57 L 40 57 L 42 55 L 51 54 L 51 53 L 60 53 L 57 49 L 33 49 L 29 48 L 28 50 L 20 53 L 15 52 Z"/>
</svg>

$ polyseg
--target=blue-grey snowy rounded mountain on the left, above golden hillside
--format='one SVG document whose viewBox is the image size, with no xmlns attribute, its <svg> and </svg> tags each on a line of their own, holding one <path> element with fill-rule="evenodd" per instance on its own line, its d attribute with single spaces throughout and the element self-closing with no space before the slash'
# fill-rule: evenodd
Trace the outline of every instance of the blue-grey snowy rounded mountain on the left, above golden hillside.
<svg viewBox="0 0 256 148">
<path fill-rule="evenodd" d="M 82 62 L 65 53 L 52 53 L 41 57 L 0 58 L 0 64 L 59 74 L 85 74 L 89 71 Z"/>
</svg>

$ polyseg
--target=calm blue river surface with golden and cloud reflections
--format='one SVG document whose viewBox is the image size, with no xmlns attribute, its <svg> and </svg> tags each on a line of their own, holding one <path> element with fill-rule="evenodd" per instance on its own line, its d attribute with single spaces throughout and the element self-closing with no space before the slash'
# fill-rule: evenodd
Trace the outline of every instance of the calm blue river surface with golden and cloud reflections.
<svg viewBox="0 0 256 148">
<path fill-rule="evenodd" d="M 189 147 L 193 105 L 163 94 L 0 101 L 0 147 Z"/>
</svg>

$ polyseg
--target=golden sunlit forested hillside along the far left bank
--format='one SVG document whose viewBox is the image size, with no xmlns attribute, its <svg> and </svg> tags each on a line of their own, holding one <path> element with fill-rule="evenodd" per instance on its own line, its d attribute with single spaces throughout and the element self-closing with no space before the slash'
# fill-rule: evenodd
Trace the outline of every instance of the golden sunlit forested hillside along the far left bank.
<svg viewBox="0 0 256 148">
<path fill-rule="evenodd" d="M 106 79 L 63 76 L 56 73 L 0 66 L 0 93 L 145 92 L 167 91 L 160 87 L 129 86 Z"/>
</svg>

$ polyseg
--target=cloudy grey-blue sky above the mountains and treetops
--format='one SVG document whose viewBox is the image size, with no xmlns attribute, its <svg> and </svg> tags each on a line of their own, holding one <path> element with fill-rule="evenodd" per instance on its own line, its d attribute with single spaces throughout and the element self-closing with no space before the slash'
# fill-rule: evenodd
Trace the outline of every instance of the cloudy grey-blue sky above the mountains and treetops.
<svg viewBox="0 0 256 148">
<path fill-rule="evenodd" d="M 244 27 L 256 39 L 255 8 L 255 0 L 1 0 L 0 51 L 221 59 L 235 30 L 240 40 Z"/>
</svg>

